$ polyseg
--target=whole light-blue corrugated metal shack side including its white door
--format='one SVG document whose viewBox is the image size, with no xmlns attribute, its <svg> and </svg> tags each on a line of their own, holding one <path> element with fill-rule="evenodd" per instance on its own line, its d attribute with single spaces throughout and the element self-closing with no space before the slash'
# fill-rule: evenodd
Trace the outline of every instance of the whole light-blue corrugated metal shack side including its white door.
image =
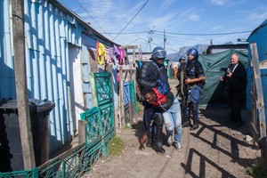
<svg viewBox="0 0 267 178">
<path fill-rule="evenodd" d="M 0 1 L 0 8 L 0 101 L 14 100 L 11 1 Z M 73 139 L 80 113 L 93 108 L 89 75 L 101 71 L 96 41 L 115 43 L 57 1 L 25 0 L 24 12 L 28 97 L 55 103 L 50 113 L 52 153 Z"/>
</svg>

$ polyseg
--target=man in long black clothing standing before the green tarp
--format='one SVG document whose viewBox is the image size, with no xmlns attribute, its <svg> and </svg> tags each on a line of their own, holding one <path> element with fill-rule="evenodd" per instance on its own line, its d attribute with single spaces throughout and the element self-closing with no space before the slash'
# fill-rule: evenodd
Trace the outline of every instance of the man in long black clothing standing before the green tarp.
<svg viewBox="0 0 267 178">
<path fill-rule="evenodd" d="M 241 94 L 246 90 L 247 72 L 239 61 L 237 53 L 231 54 L 231 64 L 221 77 L 221 81 L 223 81 L 224 93 L 228 96 L 231 107 L 230 122 L 240 126 L 242 125 L 240 100 Z"/>
</svg>

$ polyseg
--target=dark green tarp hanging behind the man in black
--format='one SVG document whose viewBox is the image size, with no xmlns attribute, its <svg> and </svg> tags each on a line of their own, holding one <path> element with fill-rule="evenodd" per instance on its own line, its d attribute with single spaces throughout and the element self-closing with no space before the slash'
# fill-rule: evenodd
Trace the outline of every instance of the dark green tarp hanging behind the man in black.
<svg viewBox="0 0 267 178">
<path fill-rule="evenodd" d="M 223 92 L 223 82 L 220 81 L 220 77 L 224 75 L 230 64 L 232 53 L 239 54 L 239 61 L 247 69 L 247 53 L 242 51 L 228 50 L 221 53 L 199 55 L 198 61 L 202 64 L 206 76 L 206 85 L 202 88 L 200 95 L 200 109 L 206 109 L 206 107 L 214 105 L 225 105 L 227 103 L 227 98 Z"/>
</svg>

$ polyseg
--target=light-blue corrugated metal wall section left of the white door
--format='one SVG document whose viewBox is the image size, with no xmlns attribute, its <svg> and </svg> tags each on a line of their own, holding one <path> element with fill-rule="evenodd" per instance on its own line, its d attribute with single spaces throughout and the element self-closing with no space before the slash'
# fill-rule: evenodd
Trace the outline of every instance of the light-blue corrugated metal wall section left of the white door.
<svg viewBox="0 0 267 178">
<path fill-rule="evenodd" d="M 0 100 L 16 99 L 10 0 L 0 1 Z M 83 27 L 48 1 L 24 1 L 28 97 L 55 102 L 50 113 L 51 152 L 73 137 L 69 44 L 81 47 Z"/>
</svg>

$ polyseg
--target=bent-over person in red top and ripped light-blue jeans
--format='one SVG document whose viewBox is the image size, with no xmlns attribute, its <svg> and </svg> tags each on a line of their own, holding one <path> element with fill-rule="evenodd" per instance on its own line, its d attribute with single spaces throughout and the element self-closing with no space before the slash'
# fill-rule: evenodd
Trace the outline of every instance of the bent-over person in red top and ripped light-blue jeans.
<svg viewBox="0 0 267 178">
<path fill-rule="evenodd" d="M 158 89 L 146 87 L 142 90 L 142 96 L 145 101 L 152 104 L 154 110 L 163 111 L 164 123 L 166 125 L 167 143 L 174 143 L 175 150 L 182 150 L 182 117 L 179 101 L 174 98 L 174 93 L 168 92 L 163 95 Z M 173 103 L 171 105 L 171 103 Z M 174 139 L 173 139 L 174 132 Z"/>
</svg>

